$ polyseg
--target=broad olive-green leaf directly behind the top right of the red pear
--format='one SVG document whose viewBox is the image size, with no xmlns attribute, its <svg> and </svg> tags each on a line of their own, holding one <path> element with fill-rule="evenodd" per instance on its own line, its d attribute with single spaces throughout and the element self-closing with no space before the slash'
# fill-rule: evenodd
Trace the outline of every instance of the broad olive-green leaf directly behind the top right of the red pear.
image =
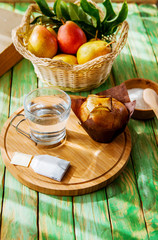
<svg viewBox="0 0 158 240">
<path fill-rule="evenodd" d="M 80 20 L 87 24 L 92 24 L 91 18 L 82 10 L 82 8 L 71 2 L 69 3 L 69 15 L 72 21 Z"/>
</svg>

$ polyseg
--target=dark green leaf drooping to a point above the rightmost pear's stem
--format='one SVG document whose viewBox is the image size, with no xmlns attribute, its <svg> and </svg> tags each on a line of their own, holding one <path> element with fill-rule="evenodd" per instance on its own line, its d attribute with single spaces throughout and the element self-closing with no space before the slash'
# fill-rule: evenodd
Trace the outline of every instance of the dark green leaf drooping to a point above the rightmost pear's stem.
<svg viewBox="0 0 158 240">
<path fill-rule="evenodd" d="M 93 22 L 95 23 L 96 21 L 97 28 L 100 29 L 99 10 L 92 3 L 87 2 L 87 0 L 81 0 L 80 5 L 84 12 L 93 17 Z"/>
</svg>

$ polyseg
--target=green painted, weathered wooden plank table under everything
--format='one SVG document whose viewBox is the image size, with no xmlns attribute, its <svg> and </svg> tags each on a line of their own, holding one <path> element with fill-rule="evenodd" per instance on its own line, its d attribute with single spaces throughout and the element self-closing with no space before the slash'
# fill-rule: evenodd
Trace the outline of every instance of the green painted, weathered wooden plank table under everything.
<svg viewBox="0 0 158 240">
<path fill-rule="evenodd" d="M 21 13 L 27 6 L 0 3 Z M 109 79 L 92 93 L 135 77 L 158 82 L 157 8 L 129 4 L 127 20 L 128 42 Z M 33 66 L 25 59 L 0 78 L 1 129 L 23 105 L 25 94 L 38 86 Z M 30 190 L 6 170 L 1 158 L 1 239 L 158 239 L 158 120 L 131 119 L 128 127 L 132 136 L 128 165 L 106 188 L 83 196 L 57 197 Z"/>
</svg>

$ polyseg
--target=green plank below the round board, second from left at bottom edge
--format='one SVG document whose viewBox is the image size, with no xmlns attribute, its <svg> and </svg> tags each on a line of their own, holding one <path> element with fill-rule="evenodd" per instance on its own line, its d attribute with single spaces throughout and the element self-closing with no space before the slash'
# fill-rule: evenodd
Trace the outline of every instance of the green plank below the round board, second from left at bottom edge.
<svg viewBox="0 0 158 240">
<path fill-rule="evenodd" d="M 39 194 L 39 239 L 75 239 L 71 197 Z"/>
</svg>

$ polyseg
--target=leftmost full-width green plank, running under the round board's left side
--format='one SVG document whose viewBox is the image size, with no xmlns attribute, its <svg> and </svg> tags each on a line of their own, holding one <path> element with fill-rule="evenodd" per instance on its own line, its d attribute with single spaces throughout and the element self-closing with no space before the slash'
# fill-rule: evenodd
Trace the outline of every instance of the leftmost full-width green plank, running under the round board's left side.
<svg viewBox="0 0 158 240">
<path fill-rule="evenodd" d="M 22 60 L 14 67 L 10 114 L 23 104 L 24 95 L 37 86 L 33 67 Z M 1 239 L 37 239 L 37 193 L 6 171 Z"/>
</svg>

